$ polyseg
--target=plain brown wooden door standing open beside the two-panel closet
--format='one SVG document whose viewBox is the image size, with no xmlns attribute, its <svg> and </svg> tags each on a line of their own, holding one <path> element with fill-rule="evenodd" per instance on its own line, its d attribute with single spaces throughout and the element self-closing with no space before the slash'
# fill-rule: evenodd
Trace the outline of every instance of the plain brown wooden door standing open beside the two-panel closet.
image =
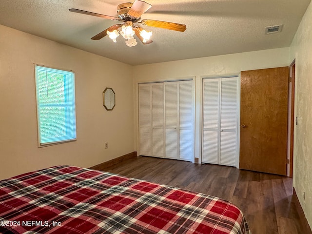
<svg viewBox="0 0 312 234">
<path fill-rule="evenodd" d="M 288 67 L 241 72 L 239 167 L 286 175 Z"/>
</svg>

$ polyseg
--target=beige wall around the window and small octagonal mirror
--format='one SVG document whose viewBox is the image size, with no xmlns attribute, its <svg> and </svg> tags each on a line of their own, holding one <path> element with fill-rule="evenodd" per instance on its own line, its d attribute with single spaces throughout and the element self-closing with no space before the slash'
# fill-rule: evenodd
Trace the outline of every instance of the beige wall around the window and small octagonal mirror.
<svg viewBox="0 0 312 234">
<path fill-rule="evenodd" d="M 0 179 L 134 151 L 132 66 L 2 25 L 0 47 Z M 77 141 L 38 148 L 34 63 L 75 72 Z M 102 105 L 105 87 L 116 93 L 113 111 Z"/>
</svg>

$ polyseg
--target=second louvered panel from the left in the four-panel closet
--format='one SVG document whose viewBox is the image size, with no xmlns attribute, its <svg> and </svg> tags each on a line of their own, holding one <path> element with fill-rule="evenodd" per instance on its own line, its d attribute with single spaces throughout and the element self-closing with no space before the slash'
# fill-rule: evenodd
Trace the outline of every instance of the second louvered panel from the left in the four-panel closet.
<svg viewBox="0 0 312 234">
<path fill-rule="evenodd" d="M 164 85 L 152 85 L 152 156 L 164 157 Z"/>
</svg>

